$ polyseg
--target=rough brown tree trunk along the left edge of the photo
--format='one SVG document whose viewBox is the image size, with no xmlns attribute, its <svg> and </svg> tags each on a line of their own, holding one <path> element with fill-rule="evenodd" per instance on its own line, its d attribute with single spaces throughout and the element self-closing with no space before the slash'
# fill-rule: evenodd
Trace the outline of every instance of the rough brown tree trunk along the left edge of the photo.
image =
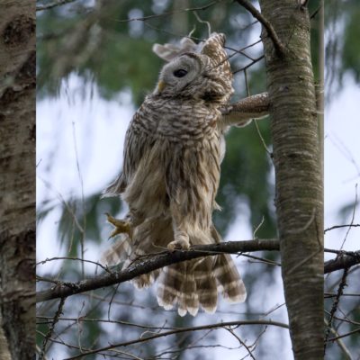
<svg viewBox="0 0 360 360">
<path fill-rule="evenodd" d="M 23 360 L 34 358 L 35 345 L 35 2 L 32 0 L 0 4 L 0 126 L 1 325 L 12 359 Z M 8 358 L 6 353 L 6 347 L 2 347 L 1 359 Z"/>
</svg>

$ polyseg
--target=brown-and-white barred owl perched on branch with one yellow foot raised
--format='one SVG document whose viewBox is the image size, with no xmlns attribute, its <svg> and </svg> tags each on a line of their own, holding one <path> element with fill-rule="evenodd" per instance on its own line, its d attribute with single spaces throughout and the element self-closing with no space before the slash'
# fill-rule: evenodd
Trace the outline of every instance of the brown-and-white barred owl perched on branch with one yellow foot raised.
<svg viewBox="0 0 360 360">
<path fill-rule="evenodd" d="M 184 52 L 161 70 L 157 87 L 130 122 L 123 169 L 105 190 L 129 205 L 125 220 L 108 215 L 121 240 L 104 254 L 105 264 L 126 255 L 127 266 L 161 249 L 188 249 L 220 242 L 211 213 L 218 207 L 224 155 L 220 107 L 233 93 L 225 37 L 213 33 L 200 52 Z M 124 233 L 127 233 L 124 235 Z M 214 312 L 218 291 L 244 302 L 245 286 L 229 255 L 166 266 L 134 280 L 138 288 L 157 279 L 157 302 L 166 310 L 195 316 L 200 305 Z"/>
</svg>

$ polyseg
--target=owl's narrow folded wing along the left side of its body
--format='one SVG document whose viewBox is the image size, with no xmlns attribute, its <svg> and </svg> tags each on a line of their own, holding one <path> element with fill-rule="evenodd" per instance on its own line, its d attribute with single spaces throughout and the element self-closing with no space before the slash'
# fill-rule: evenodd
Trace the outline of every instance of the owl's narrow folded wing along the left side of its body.
<svg viewBox="0 0 360 360">
<path fill-rule="evenodd" d="M 126 131 L 122 171 L 115 180 L 103 191 L 103 197 L 117 196 L 123 193 L 130 183 L 130 178 L 135 173 L 139 162 L 144 154 L 151 148 L 151 142 L 148 141 L 149 135 L 144 136 L 141 124 L 144 117 L 141 106 L 135 112 L 128 130 Z"/>
</svg>

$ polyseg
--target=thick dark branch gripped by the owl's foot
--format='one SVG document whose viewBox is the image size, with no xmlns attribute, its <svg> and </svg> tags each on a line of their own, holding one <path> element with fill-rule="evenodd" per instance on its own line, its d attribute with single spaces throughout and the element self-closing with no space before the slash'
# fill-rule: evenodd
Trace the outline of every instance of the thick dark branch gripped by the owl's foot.
<svg viewBox="0 0 360 360">
<path fill-rule="evenodd" d="M 51 299 L 64 298 L 76 293 L 84 293 L 112 284 L 119 284 L 133 279 L 136 276 L 147 274 L 164 266 L 176 264 L 197 257 L 214 256 L 221 253 L 238 253 L 250 251 L 276 251 L 279 243 L 276 239 L 257 239 L 248 241 L 229 241 L 214 245 L 195 246 L 190 251 L 165 251 L 163 253 L 142 258 L 134 262 L 125 270 L 111 274 L 97 276 L 79 283 L 59 283 L 51 289 L 37 293 L 37 302 L 46 302 Z"/>
</svg>

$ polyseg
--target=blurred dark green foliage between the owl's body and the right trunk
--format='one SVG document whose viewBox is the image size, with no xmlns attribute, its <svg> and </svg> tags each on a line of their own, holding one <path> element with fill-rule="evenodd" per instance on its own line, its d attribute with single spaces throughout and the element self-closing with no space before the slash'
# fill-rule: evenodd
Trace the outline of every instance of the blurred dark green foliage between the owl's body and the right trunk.
<svg viewBox="0 0 360 360">
<path fill-rule="evenodd" d="M 259 130 L 269 143 L 268 121 L 259 122 Z M 224 233 L 237 215 L 237 203 L 245 196 L 250 208 L 253 229 L 264 223 L 257 232 L 258 237 L 275 235 L 275 222 L 271 202 L 272 187 L 269 184 L 270 159 L 257 133 L 255 123 L 244 129 L 232 129 L 227 136 L 227 156 L 221 165 L 220 190 L 217 201 L 222 211 L 216 213 L 215 223 Z M 244 201 L 244 200 L 243 200 Z M 238 239 L 241 234 L 238 234 Z"/>
</svg>

